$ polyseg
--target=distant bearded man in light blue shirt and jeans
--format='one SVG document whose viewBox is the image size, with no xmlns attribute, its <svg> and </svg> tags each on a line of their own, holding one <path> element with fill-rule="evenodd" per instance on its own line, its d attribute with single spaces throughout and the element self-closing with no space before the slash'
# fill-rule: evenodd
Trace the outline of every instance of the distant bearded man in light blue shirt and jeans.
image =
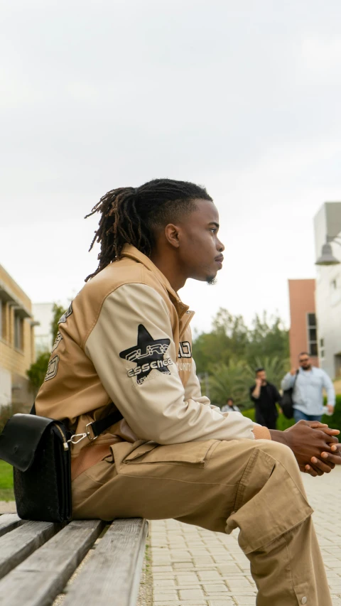
<svg viewBox="0 0 341 606">
<path fill-rule="evenodd" d="M 302 352 L 298 357 L 299 369 L 292 368 L 284 377 L 282 389 L 293 387 L 293 418 L 296 423 L 320 421 L 323 415 L 323 388 L 327 391 L 328 413 L 334 412 L 335 389 L 322 368 L 312 366 L 309 354 Z"/>
</svg>

